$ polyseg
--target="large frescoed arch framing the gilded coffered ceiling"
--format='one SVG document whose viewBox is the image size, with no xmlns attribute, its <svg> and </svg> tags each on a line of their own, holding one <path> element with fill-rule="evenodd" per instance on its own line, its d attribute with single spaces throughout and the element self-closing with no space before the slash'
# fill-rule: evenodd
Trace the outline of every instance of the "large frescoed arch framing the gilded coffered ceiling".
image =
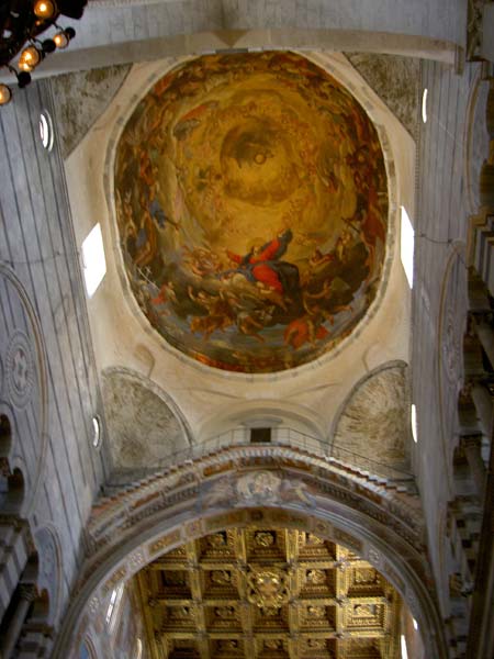
<svg viewBox="0 0 494 659">
<path fill-rule="evenodd" d="M 424 529 L 412 513 L 417 501 L 364 484 L 330 458 L 288 448 L 233 447 L 133 492 L 123 490 L 93 510 L 87 529 L 90 556 L 54 659 L 77 657 L 108 593 L 153 559 L 189 539 L 259 518 L 315 533 L 369 560 L 418 621 L 427 656 L 445 659 Z"/>
</svg>

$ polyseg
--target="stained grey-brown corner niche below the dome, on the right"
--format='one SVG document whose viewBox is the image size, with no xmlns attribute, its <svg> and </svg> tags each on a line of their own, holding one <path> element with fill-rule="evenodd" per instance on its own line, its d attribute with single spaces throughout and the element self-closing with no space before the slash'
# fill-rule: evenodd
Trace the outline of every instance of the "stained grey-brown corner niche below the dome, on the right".
<svg viewBox="0 0 494 659">
<path fill-rule="evenodd" d="M 411 479 L 407 364 L 393 360 L 361 378 L 330 431 L 332 455 L 384 478 Z"/>
</svg>

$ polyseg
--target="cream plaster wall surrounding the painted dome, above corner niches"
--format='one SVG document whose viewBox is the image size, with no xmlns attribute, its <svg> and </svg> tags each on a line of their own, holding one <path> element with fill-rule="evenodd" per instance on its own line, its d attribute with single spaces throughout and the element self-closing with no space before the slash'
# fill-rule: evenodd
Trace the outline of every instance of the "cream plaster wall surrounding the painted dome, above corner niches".
<svg viewBox="0 0 494 659">
<path fill-rule="evenodd" d="M 125 364 L 151 378 L 175 401 L 197 442 L 262 410 L 271 415 L 278 412 L 285 425 L 297 415 L 300 421 L 305 420 L 306 432 L 326 439 L 338 405 L 361 376 L 382 362 L 408 359 L 409 290 L 397 256 L 396 225 L 400 204 L 413 212 L 414 143 L 344 56 L 313 54 L 312 58 L 349 85 L 374 122 L 385 126 L 391 172 L 393 230 L 385 267 L 388 283 L 378 295 L 382 300 L 371 308 L 368 323 L 344 342 L 345 347 L 336 356 L 292 372 L 268 376 L 211 369 L 167 346 L 130 295 L 113 215 L 112 154 L 121 126 L 138 98 L 175 60 L 135 66 L 108 111 L 65 163 L 78 244 L 94 222 L 102 225 L 108 271 L 88 303 L 99 367 Z"/>
</svg>

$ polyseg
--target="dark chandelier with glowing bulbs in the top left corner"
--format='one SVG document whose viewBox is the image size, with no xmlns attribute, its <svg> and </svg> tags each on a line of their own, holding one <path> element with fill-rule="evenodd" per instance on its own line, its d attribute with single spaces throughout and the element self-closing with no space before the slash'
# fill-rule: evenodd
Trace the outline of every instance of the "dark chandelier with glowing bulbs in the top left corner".
<svg viewBox="0 0 494 659">
<path fill-rule="evenodd" d="M 31 82 L 31 72 L 49 53 L 66 48 L 76 36 L 74 27 L 57 24 L 58 18 L 80 19 L 86 3 L 87 0 L 5 0 L 0 3 L 0 67 L 16 77 L 21 89 Z M 40 36 L 49 29 L 55 33 L 42 41 Z M 0 105 L 11 98 L 11 88 L 0 82 Z"/>
</svg>

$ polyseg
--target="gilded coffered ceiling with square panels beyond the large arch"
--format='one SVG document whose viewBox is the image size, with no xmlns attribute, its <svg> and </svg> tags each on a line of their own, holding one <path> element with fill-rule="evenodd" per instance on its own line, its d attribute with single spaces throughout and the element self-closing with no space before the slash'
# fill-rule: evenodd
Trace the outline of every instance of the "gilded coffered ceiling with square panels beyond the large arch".
<svg viewBox="0 0 494 659">
<path fill-rule="evenodd" d="M 154 659 L 392 659 L 401 599 L 348 549 L 301 530 L 229 528 L 136 579 Z"/>
</svg>

